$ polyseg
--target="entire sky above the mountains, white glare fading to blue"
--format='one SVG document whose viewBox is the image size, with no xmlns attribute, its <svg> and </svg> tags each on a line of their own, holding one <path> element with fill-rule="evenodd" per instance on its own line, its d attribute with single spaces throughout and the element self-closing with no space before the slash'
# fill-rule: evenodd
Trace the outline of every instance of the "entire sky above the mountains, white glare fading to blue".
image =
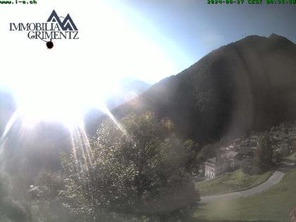
<svg viewBox="0 0 296 222">
<path fill-rule="evenodd" d="M 242 35 L 276 32 L 295 41 L 295 7 L 209 6 L 202 0 L 0 5 L 0 86 L 13 92 L 25 115 L 70 118 L 101 106 L 121 78 L 153 84 Z M 9 23 L 46 22 L 54 9 L 63 17 L 70 13 L 79 40 L 56 40 L 49 50 L 26 32 L 8 31 Z"/>
</svg>

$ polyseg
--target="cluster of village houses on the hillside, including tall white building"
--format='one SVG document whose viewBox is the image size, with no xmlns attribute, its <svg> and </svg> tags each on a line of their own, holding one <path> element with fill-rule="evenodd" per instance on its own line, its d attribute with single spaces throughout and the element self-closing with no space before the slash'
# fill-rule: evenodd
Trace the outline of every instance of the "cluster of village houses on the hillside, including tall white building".
<svg viewBox="0 0 296 222">
<path fill-rule="evenodd" d="M 254 159 L 263 132 L 252 133 L 249 137 L 240 137 L 226 146 L 220 147 L 216 157 L 207 159 L 199 167 L 199 180 L 210 180 L 217 175 L 235 171 L 241 167 L 244 159 Z M 296 122 L 283 123 L 268 132 L 273 141 L 273 155 L 285 157 L 296 150 Z M 273 158 L 273 163 L 278 161 Z"/>
</svg>

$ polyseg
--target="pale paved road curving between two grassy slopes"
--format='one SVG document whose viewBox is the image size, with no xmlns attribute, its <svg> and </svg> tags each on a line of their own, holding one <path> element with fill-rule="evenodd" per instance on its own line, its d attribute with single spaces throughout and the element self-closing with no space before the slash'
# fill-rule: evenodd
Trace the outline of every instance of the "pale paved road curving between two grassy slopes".
<svg viewBox="0 0 296 222">
<path fill-rule="evenodd" d="M 273 175 L 271 175 L 271 177 L 269 178 L 269 180 L 266 180 L 266 182 L 261 183 L 261 185 L 258 185 L 257 187 L 250 188 L 249 190 L 242 190 L 239 192 L 229 192 L 223 195 L 201 197 L 201 202 L 207 203 L 207 202 L 213 202 L 215 200 L 222 199 L 222 198 L 235 199 L 239 197 L 248 197 L 251 195 L 255 195 L 259 192 L 263 192 L 264 190 L 268 190 L 273 185 L 280 183 L 280 180 L 282 180 L 284 175 L 285 173 L 282 172 L 280 169 L 280 171 L 274 172 Z"/>
</svg>

